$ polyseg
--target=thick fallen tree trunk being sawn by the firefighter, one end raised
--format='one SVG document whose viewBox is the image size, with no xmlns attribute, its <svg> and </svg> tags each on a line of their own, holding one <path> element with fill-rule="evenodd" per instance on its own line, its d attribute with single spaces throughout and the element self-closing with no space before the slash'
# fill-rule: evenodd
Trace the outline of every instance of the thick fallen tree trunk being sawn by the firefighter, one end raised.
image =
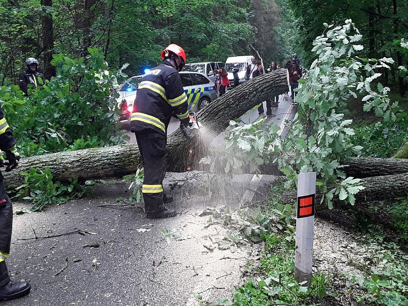
<svg viewBox="0 0 408 306">
<path fill-rule="evenodd" d="M 266 73 L 228 91 L 208 107 L 198 111 L 197 116 L 206 130 L 215 136 L 225 130 L 230 120 L 241 117 L 267 98 L 287 91 L 287 69 Z M 194 169 L 206 155 L 208 144 L 205 137 L 186 141 L 180 130 L 175 131 L 167 139 L 168 171 Z M 10 188 L 21 185 L 24 177 L 19 173 L 28 172 L 32 167 L 50 168 L 56 180 L 67 181 L 73 177 L 82 180 L 120 177 L 135 173 L 140 164 L 137 145 L 127 144 L 25 158 L 16 170 L 4 173 L 4 176 L 5 183 Z"/>
</svg>

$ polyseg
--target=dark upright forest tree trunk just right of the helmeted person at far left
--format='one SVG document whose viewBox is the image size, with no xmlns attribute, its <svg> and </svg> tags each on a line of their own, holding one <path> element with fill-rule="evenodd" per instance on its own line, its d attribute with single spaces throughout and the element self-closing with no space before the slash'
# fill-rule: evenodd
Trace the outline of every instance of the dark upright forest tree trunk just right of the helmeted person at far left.
<svg viewBox="0 0 408 306">
<path fill-rule="evenodd" d="M 53 7 L 52 0 L 41 0 L 41 5 L 46 7 L 47 10 L 51 10 Z M 46 11 L 41 15 L 41 26 L 42 26 L 42 50 L 44 53 L 43 59 L 43 69 L 44 78 L 49 80 L 51 77 L 55 77 L 56 69 L 51 65 L 51 60 L 53 59 L 54 52 L 54 30 L 53 30 L 53 15 Z"/>
</svg>

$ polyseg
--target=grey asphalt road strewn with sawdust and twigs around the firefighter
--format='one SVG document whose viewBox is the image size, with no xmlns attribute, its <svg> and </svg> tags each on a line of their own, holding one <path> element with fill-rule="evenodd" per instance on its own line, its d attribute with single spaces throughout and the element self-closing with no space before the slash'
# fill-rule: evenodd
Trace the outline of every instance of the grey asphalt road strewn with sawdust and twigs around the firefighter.
<svg viewBox="0 0 408 306">
<path fill-rule="evenodd" d="M 294 112 L 283 100 L 267 120 L 284 132 Z M 245 122 L 257 118 L 256 110 L 242 117 Z M 177 127 L 172 122 L 169 134 Z M 243 198 L 266 198 L 276 177 L 239 175 L 233 190 L 225 188 L 209 199 L 188 184 L 169 190 L 185 175 L 166 176 L 164 187 L 180 212 L 170 219 L 146 219 L 141 207 L 106 207 L 121 205 L 118 197 L 129 196 L 130 182 L 123 180 L 97 184 L 90 198 L 14 215 L 7 263 L 15 280 L 31 282 L 32 292 L 4 305 L 198 306 L 194 294 L 210 301 L 231 298 L 244 265 L 257 258 L 258 246 L 243 242 L 236 250 L 220 250 L 217 242 L 232 228 L 208 226 L 211 216 L 200 214 L 208 207 L 235 209 Z M 28 206 L 16 202 L 14 210 Z"/>
</svg>

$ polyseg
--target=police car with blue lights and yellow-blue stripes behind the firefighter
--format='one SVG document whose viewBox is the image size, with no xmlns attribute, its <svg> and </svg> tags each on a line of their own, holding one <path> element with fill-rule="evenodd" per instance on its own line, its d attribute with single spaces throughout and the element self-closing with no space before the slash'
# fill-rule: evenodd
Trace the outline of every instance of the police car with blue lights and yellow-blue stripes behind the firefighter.
<svg viewBox="0 0 408 306">
<path fill-rule="evenodd" d="M 148 73 L 148 71 L 146 71 Z M 133 101 L 136 91 L 144 74 L 136 75 L 126 80 L 120 88 L 117 98 L 121 110 L 120 120 L 128 120 L 133 110 Z M 188 109 L 199 111 L 208 106 L 217 96 L 214 83 L 206 75 L 194 71 L 181 71 L 180 77 L 185 93 L 187 94 Z"/>
</svg>

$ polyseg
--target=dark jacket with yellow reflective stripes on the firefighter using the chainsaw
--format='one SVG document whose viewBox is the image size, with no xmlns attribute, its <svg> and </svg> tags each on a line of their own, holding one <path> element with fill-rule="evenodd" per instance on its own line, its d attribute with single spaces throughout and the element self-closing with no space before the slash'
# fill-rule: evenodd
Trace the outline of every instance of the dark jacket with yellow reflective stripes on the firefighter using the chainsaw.
<svg viewBox="0 0 408 306">
<path fill-rule="evenodd" d="M 142 78 L 133 103 L 132 132 L 152 129 L 166 135 L 171 115 L 188 118 L 187 95 L 179 72 L 166 62 Z"/>
</svg>

